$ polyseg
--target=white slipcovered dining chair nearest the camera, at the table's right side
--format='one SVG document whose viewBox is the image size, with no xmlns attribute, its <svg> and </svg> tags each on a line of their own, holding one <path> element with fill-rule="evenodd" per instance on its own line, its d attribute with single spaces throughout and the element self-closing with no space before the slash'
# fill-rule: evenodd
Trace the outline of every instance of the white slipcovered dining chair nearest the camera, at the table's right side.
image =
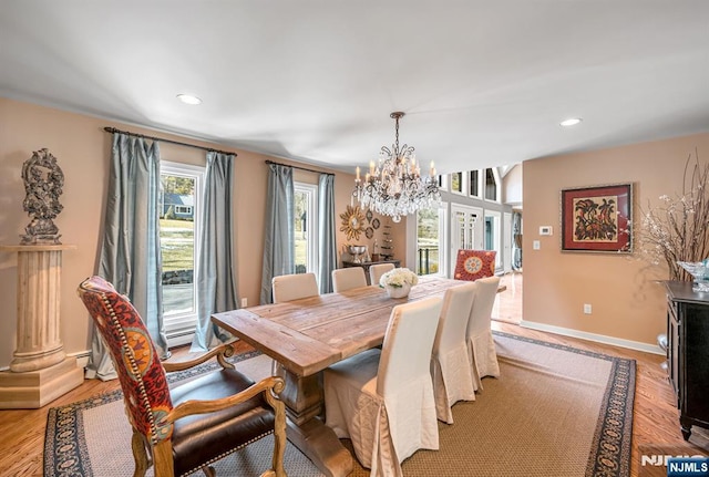
<svg viewBox="0 0 709 477">
<path fill-rule="evenodd" d="M 435 297 L 397 305 L 381 350 L 325 370 L 326 424 L 371 476 L 401 477 L 407 457 L 439 448 L 430 362 L 440 312 Z"/>
</svg>

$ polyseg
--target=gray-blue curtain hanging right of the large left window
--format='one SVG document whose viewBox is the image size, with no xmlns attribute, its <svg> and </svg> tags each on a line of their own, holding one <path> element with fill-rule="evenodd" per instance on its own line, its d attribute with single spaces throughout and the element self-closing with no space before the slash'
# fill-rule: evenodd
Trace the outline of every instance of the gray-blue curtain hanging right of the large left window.
<svg viewBox="0 0 709 477">
<path fill-rule="evenodd" d="M 229 335 L 212 323 L 212 313 L 236 310 L 234 280 L 233 188 L 234 155 L 207 153 L 202 207 L 202 237 L 197 258 L 197 326 L 193 351 L 208 350 L 215 338 Z"/>
</svg>

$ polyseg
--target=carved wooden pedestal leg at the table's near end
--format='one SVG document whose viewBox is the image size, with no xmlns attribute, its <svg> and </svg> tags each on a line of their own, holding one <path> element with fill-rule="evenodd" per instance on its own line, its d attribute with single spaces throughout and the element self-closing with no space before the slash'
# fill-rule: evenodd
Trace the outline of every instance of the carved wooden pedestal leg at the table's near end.
<svg viewBox="0 0 709 477">
<path fill-rule="evenodd" d="M 288 440 L 308 456 L 326 476 L 349 475 L 353 466 L 352 455 L 319 417 L 325 408 L 321 376 L 297 376 L 282 367 L 278 374 L 286 381 L 280 400 L 286 404 L 288 415 Z"/>
</svg>

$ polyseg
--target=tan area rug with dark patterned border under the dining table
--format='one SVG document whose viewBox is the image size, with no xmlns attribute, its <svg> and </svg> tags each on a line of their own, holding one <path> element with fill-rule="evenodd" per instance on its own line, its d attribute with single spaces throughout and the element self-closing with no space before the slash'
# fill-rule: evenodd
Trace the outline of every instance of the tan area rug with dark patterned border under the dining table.
<svg viewBox="0 0 709 477">
<path fill-rule="evenodd" d="M 455 423 L 439 423 L 440 450 L 417 452 L 402 465 L 405 476 L 630 474 L 635 361 L 497 332 L 495 343 L 501 377 L 485 379 L 475 402 L 453 407 Z M 254 379 L 270 365 L 258 353 L 236 361 Z M 199 366 L 196 373 L 215 366 Z M 194 375 L 174 373 L 171 381 Z M 44 475 L 130 477 L 130 439 L 121 392 L 51 408 Z M 342 443 L 351 450 L 348 440 Z M 217 474 L 258 476 L 268 467 L 271 449 L 270 438 L 261 439 L 217 463 Z M 286 470 L 290 477 L 321 476 L 291 444 Z M 354 460 L 350 476 L 369 476 L 369 470 Z"/>
</svg>

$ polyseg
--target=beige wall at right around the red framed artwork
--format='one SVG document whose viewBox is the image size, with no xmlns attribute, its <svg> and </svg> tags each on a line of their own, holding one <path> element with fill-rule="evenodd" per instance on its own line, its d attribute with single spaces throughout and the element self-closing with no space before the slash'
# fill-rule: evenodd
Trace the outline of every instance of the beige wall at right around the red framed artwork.
<svg viewBox="0 0 709 477">
<path fill-rule="evenodd" d="M 664 267 L 647 267 L 638 256 L 561 252 L 562 188 L 633 183 L 634 216 L 638 205 L 657 205 L 662 194 L 681 191 L 685 163 L 699 151 L 709 158 L 709 134 L 636 144 L 524 163 L 525 322 L 655 344 L 664 332 Z M 542 237 L 540 226 L 553 226 Z M 541 250 L 533 250 L 533 240 Z M 590 303 L 593 313 L 584 314 Z M 633 343 L 626 343 L 633 344 Z"/>
</svg>

